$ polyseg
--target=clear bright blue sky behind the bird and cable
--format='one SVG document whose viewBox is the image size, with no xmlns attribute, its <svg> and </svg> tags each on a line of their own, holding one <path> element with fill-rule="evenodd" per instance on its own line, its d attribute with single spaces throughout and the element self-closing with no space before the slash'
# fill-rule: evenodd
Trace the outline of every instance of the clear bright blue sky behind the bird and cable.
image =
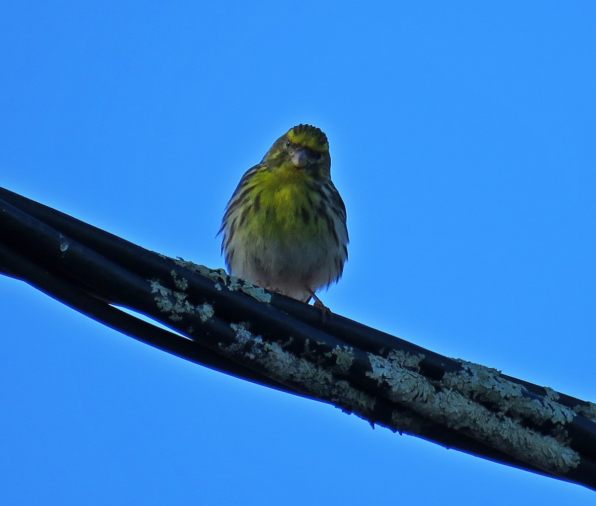
<svg viewBox="0 0 596 506">
<path fill-rule="evenodd" d="M 1 186 L 210 267 L 243 172 L 330 140 L 333 311 L 596 401 L 591 2 L 5 2 Z M 4 504 L 593 504 L 209 371 L 0 277 Z"/>
</svg>

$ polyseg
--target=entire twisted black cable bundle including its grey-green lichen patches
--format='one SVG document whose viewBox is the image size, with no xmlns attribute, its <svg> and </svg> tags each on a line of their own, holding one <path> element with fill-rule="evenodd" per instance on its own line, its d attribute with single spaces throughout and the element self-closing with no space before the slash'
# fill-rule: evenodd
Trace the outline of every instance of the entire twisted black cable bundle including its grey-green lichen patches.
<svg viewBox="0 0 596 506">
<path fill-rule="evenodd" d="M 147 251 L 0 189 L 0 271 L 184 359 L 596 488 L 596 407 Z M 156 319 L 157 328 L 113 305 Z"/>
</svg>

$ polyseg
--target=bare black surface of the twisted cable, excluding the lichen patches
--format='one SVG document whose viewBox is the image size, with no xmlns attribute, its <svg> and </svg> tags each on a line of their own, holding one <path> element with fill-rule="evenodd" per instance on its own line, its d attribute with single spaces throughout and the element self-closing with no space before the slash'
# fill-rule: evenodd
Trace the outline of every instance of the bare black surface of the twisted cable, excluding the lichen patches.
<svg viewBox="0 0 596 506">
<path fill-rule="evenodd" d="M 193 266 L 148 251 L 124 239 L 92 227 L 54 209 L 0 189 L 0 271 L 26 280 L 36 288 L 63 301 L 111 328 L 131 335 L 145 343 L 169 353 L 201 363 L 212 369 L 248 379 L 288 393 L 330 402 L 324 396 L 313 396 L 299 382 L 285 379 L 280 382 L 268 377 L 268 372 L 257 363 L 238 362 L 231 356 L 219 353 L 222 343 L 232 343 L 235 334 L 230 323 L 250 321 L 250 330 L 262 335 L 271 343 L 283 341 L 284 349 L 297 357 L 305 357 L 305 343 L 313 356 L 308 357 L 317 365 L 328 368 L 337 378 L 345 378 L 376 399 L 375 408 L 367 419 L 391 427 L 392 414 L 401 412 L 415 420 L 417 431 L 411 432 L 424 439 L 483 456 L 497 462 L 520 467 L 532 472 L 570 480 L 596 488 L 596 424 L 582 415 L 571 422 L 558 424 L 557 430 L 567 431 L 571 448 L 581 455 L 581 462 L 567 473 L 551 474 L 532 464 L 511 457 L 485 442 L 430 419 L 421 418 L 411 409 L 389 400 L 385 387 L 368 377 L 368 354 L 387 358 L 393 350 L 412 356 L 424 356 L 420 372 L 431 382 L 440 382 L 448 373 L 465 374 L 461 362 L 443 357 L 430 350 L 368 328 L 358 322 L 332 314 L 321 325 L 318 309 L 291 300 L 279 294 L 270 294 L 271 303 L 263 304 L 246 294 L 230 291 L 229 277 L 225 273 L 204 276 Z M 165 316 L 156 308 L 155 294 L 150 282 L 159 283 L 172 303 L 180 295 L 179 283 L 184 279 L 184 297 L 198 306 L 209 304 L 213 308 L 204 321 L 196 316 L 181 313 L 178 322 L 167 325 L 193 340 L 179 337 L 150 323 L 123 313 L 108 303 L 131 308 L 157 320 Z M 240 282 L 241 283 L 241 282 Z M 178 291 L 178 292 L 176 292 Z M 178 294 L 178 295 L 176 295 Z M 352 348 L 353 363 L 346 371 L 334 369 L 330 353 L 336 347 Z M 502 378 L 523 387 L 523 396 L 542 402 L 547 394 L 543 387 L 516 378 Z M 308 389 L 307 389 L 308 390 Z M 560 394 L 558 402 L 573 408 L 587 408 L 589 403 Z M 486 408 L 491 406 L 486 405 Z M 524 419 L 523 424 L 548 435 L 554 429 L 543 422 Z"/>
</svg>

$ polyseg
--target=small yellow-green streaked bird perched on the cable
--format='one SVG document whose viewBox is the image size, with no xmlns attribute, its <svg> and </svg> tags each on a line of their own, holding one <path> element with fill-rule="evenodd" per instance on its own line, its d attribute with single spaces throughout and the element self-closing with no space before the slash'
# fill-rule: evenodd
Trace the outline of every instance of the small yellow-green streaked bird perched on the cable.
<svg viewBox="0 0 596 506">
<path fill-rule="evenodd" d="M 324 307 L 315 292 L 340 279 L 349 242 L 327 136 L 297 125 L 278 138 L 243 175 L 219 232 L 233 276 Z"/>
</svg>

